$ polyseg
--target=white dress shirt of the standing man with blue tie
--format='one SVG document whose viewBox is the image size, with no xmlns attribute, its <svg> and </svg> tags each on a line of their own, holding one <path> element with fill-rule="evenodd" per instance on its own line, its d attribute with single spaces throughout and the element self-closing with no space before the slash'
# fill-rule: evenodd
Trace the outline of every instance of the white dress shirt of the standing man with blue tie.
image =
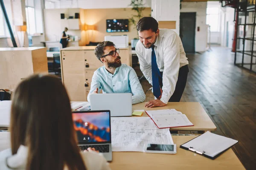
<svg viewBox="0 0 256 170">
<path fill-rule="evenodd" d="M 179 69 L 189 64 L 178 34 L 170 29 L 160 29 L 154 51 L 157 59 L 157 67 L 163 71 L 163 93 L 161 101 L 168 103 L 175 91 Z M 140 70 L 152 85 L 151 48 L 147 49 L 138 41 L 135 47 L 140 62 Z"/>
</svg>

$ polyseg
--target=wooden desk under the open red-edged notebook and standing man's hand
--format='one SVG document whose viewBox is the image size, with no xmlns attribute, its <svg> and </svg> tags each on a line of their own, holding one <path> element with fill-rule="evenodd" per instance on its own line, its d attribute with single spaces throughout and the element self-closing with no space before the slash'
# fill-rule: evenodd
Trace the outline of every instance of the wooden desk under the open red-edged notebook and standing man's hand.
<svg viewBox="0 0 256 170">
<path fill-rule="evenodd" d="M 170 130 L 203 130 L 203 131 L 211 131 L 216 130 L 216 126 L 209 118 L 207 113 L 204 111 L 204 108 L 198 102 L 169 102 L 164 107 L 157 108 L 145 108 L 145 102 L 138 103 L 132 106 L 134 110 L 161 110 L 161 109 L 176 109 L 177 111 L 185 114 L 189 121 L 193 123 L 194 126 L 189 127 L 175 127 L 170 128 Z M 148 116 L 146 113 L 143 113 L 143 116 Z"/>
</svg>

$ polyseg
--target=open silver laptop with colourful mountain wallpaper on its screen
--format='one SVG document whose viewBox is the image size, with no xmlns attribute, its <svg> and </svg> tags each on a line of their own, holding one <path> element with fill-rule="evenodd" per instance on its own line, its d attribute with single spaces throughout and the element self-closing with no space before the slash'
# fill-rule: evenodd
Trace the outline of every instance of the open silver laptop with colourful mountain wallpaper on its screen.
<svg viewBox="0 0 256 170">
<path fill-rule="evenodd" d="M 110 111 L 73 111 L 72 118 L 80 150 L 94 147 L 112 161 Z"/>
</svg>

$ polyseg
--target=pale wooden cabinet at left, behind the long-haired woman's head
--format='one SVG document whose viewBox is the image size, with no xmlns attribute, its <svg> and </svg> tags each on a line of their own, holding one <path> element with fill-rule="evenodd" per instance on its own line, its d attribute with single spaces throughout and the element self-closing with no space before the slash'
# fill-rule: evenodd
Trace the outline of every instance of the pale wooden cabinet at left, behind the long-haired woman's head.
<svg viewBox="0 0 256 170">
<path fill-rule="evenodd" d="M 14 90 L 21 79 L 48 74 L 46 48 L 0 48 L 0 89 Z"/>
</svg>

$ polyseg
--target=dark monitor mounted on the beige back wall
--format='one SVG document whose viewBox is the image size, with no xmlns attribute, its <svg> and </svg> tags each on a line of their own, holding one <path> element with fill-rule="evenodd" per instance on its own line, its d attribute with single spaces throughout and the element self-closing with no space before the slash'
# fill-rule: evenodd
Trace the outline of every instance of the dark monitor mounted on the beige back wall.
<svg viewBox="0 0 256 170">
<path fill-rule="evenodd" d="M 129 20 L 128 19 L 113 19 L 106 20 L 107 32 L 128 32 Z"/>
</svg>

